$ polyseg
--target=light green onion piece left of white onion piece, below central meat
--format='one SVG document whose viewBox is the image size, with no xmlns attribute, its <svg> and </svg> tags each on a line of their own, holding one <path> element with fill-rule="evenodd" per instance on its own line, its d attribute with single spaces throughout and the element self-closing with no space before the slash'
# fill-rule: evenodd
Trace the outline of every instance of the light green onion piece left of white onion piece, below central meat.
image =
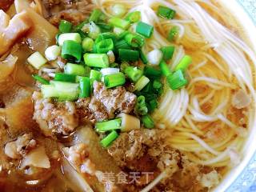
<svg viewBox="0 0 256 192">
<path fill-rule="evenodd" d="M 116 118 L 107 122 L 96 122 L 95 130 L 97 132 L 106 132 L 110 130 L 118 130 L 121 129 L 121 118 Z"/>
</svg>

